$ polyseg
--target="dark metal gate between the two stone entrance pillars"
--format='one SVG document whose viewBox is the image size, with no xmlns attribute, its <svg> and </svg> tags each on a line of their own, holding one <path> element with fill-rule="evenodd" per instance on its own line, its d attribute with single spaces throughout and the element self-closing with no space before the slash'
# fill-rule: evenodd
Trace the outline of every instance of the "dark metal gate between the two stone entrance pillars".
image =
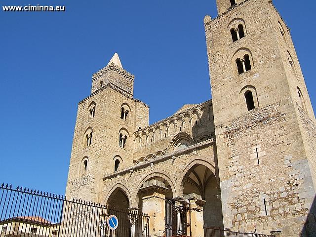
<svg viewBox="0 0 316 237">
<path fill-rule="evenodd" d="M 176 206 L 173 199 L 165 199 L 165 236 L 187 235 L 187 212 L 185 205 Z"/>
</svg>

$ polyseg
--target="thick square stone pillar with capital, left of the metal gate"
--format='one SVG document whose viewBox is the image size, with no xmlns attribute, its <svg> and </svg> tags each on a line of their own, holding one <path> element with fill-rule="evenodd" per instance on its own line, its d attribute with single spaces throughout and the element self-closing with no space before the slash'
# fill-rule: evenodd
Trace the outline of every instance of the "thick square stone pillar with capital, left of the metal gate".
<svg viewBox="0 0 316 237">
<path fill-rule="evenodd" d="M 152 237 L 163 237 L 165 235 L 165 194 L 168 189 L 161 181 L 146 181 L 143 188 L 143 212 L 150 216 L 149 235 Z"/>
</svg>

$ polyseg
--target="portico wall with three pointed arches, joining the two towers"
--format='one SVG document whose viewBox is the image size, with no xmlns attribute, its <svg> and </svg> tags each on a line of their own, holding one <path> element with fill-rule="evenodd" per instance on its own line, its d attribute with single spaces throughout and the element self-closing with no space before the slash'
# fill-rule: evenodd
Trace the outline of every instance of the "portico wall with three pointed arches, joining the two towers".
<svg viewBox="0 0 316 237">
<path fill-rule="evenodd" d="M 212 145 L 213 140 L 210 139 L 104 176 L 102 202 L 106 204 L 113 191 L 119 188 L 128 197 L 130 207 L 137 208 L 139 189 L 145 181 L 154 177 L 160 177 L 170 185 L 172 197 L 182 197 L 184 176 L 194 165 L 205 165 L 215 174 L 217 162 Z"/>
</svg>

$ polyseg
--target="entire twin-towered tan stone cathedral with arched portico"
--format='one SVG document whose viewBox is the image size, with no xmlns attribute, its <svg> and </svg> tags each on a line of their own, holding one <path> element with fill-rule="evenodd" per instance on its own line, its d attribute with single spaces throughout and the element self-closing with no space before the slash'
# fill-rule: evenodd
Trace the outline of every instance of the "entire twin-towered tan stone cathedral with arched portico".
<svg viewBox="0 0 316 237">
<path fill-rule="evenodd" d="M 66 196 L 149 213 L 156 237 L 170 236 L 166 200 L 190 204 L 193 237 L 315 236 L 316 120 L 290 29 L 272 0 L 216 3 L 212 99 L 149 125 L 115 54 L 79 102 Z"/>
</svg>

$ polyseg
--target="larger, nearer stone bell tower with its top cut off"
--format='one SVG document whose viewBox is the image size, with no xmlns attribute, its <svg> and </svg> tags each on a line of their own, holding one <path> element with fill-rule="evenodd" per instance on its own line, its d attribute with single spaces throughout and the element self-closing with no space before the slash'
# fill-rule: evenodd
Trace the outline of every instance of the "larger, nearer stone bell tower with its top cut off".
<svg viewBox="0 0 316 237">
<path fill-rule="evenodd" d="M 316 125 L 290 30 L 272 0 L 216 3 L 204 26 L 224 227 L 298 236 L 315 225 Z"/>
</svg>

